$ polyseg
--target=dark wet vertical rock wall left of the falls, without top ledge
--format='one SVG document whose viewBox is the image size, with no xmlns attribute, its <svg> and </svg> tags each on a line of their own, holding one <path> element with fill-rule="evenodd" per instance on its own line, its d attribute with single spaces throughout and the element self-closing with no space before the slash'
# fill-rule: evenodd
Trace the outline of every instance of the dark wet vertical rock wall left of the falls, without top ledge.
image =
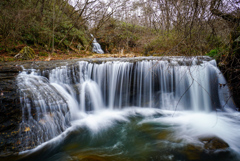
<svg viewBox="0 0 240 161">
<path fill-rule="evenodd" d="M 16 85 L 20 67 L 0 64 L 0 156 L 19 151 L 17 148 L 22 112 Z"/>
</svg>

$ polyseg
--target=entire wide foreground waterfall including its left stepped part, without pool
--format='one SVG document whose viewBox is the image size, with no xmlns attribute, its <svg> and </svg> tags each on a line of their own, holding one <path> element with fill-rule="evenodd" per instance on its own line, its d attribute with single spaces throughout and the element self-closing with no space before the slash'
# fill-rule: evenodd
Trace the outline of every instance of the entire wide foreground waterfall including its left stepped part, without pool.
<svg viewBox="0 0 240 161">
<path fill-rule="evenodd" d="M 219 86 L 226 84 L 222 73 L 208 57 L 79 61 L 50 71 L 26 69 L 17 81 L 23 108 L 21 131 L 27 131 L 36 145 L 94 111 L 234 108 L 227 85 Z M 34 132 L 28 129 L 32 127 Z"/>
</svg>

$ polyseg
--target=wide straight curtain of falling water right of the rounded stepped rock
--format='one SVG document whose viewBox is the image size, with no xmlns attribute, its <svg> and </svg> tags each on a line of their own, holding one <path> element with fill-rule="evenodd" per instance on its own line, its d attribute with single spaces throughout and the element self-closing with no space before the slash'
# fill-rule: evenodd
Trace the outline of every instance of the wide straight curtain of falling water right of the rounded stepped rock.
<svg viewBox="0 0 240 161">
<path fill-rule="evenodd" d="M 226 81 L 215 60 L 199 62 L 197 58 L 101 64 L 80 61 L 52 70 L 49 80 L 70 86 L 78 84 L 74 93 L 80 94 L 75 99 L 83 111 L 130 106 L 212 111 L 223 108 L 230 97 L 228 87 L 219 86 Z M 227 104 L 232 104 L 231 100 Z"/>
</svg>

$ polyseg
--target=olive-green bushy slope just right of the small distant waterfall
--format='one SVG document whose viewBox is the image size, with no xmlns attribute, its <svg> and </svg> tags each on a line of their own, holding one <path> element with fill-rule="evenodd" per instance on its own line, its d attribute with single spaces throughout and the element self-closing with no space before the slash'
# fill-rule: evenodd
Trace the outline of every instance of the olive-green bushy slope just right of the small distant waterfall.
<svg viewBox="0 0 240 161">
<path fill-rule="evenodd" d="M 138 47 L 143 35 L 149 34 L 148 31 L 145 27 L 110 19 L 98 31 L 97 35 L 101 38 L 98 42 L 107 52 L 116 53 L 122 49 L 128 52 Z"/>
</svg>

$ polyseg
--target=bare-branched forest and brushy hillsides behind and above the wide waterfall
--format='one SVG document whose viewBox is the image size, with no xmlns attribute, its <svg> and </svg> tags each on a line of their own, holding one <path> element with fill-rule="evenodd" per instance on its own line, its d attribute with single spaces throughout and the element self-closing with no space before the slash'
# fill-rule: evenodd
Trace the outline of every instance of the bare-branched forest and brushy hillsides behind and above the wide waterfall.
<svg viewBox="0 0 240 161">
<path fill-rule="evenodd" d="M 91 55 L 93 34 L 108 54 L 211 56 L 240 96 L 239 20 L 239 0 L 1 0 L 0 61 Z"/>
</svg>

